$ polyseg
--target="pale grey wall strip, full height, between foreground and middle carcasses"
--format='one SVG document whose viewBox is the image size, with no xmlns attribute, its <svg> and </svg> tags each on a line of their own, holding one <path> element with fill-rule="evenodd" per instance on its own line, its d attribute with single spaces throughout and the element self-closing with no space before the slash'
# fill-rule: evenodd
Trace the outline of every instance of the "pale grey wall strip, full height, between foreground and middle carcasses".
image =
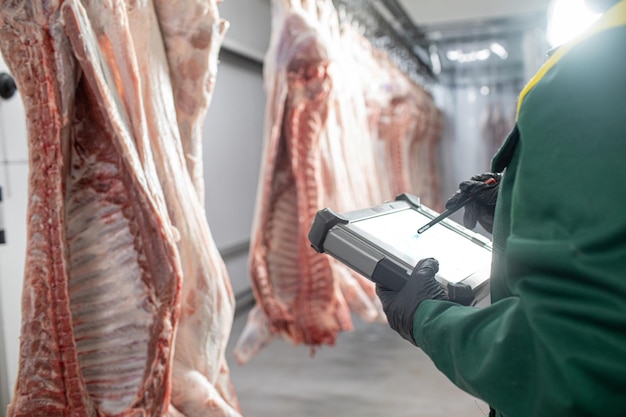
<svg viewBox="0 0 626 417">
<path fill-rule="evenodd" d="M 248 246 L 263 148 L 262 61 L 271 10 L 267 0 L 229 0 L 219 7 L 230 27 L 203 130 L 205 206 L 241 305 L 251 299 Z"/>
</svg>

